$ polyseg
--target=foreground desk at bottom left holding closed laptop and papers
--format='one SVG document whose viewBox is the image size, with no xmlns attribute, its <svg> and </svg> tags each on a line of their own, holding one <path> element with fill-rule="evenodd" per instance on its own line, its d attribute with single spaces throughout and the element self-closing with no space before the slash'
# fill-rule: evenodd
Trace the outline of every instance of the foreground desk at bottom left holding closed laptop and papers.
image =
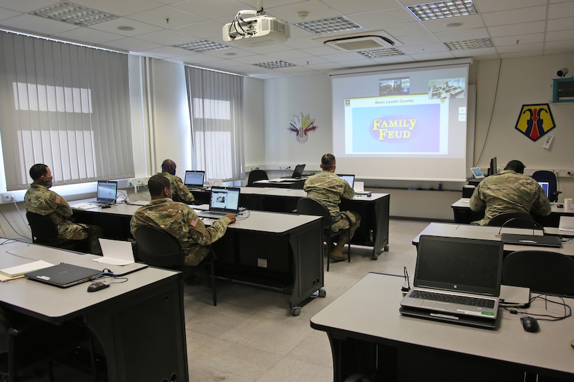
<svg viewBox="0 0 574 382">
<path fill-rule="evenodd" d="M 102 269 L 95 257 L 22 242 L 0 246 L 0 268 L 46 260 Z M 125 267 L 122 272 L 141 265 Z M 86 292 L 89 283 L 61 289 L 17 279 L 0 283 L 0 301 L 52 324 L 83 323 L 102 346 L 108 381 L 188 381 L 181 274 L 147 267 L 125 277 L 95 293 Z"/>
</svg>

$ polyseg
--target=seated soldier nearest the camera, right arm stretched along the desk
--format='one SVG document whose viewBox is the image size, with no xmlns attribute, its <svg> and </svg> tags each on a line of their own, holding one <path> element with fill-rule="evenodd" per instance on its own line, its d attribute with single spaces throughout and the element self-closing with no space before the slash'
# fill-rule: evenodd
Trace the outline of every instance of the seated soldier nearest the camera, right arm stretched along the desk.
<svg viewBox="0 0 574 382">
<path fill-rule="evenodd" d="M 185 254 L 185 265 L 196 266 L 209 254 L 206 245 L 223 237 L 234 215 L 225 215 L 205 228 L 193 208 L 171 199 L 171 183 L 162 174 L 148 181 L 152 201 L 136 210 L 131 217 L 130 231 L 136 236 L 140 226 L 154 226 L 176 238 L 182 247 L 191 247 Z"/>
</svg>

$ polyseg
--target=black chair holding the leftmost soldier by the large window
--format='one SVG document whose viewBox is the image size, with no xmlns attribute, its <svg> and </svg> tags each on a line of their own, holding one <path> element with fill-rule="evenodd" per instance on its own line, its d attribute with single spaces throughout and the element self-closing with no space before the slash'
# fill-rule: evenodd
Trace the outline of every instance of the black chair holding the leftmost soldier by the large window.
<svg viewBox="0 0 574 382">
<path fill-rule="evenodd" d="M 49 216 L 26 212 L 26 219 L 32 231 L 32 242 L 73 251 L 90 252 L 90 238 L 81 240 L 58 239 L 58 227 Z"/>
</svg>

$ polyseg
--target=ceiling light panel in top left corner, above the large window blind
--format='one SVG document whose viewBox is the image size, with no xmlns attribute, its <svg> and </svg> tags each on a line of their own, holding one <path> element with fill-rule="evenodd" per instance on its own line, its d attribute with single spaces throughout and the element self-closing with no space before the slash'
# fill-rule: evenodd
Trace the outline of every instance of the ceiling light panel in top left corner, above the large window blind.
<svg viewBox="0 0 574 382">
<path fill-rule="evenodd" d="M 35 10 L 31 12 L 30 15 L 57 20 L 58 22 L 67 22 L 68 24 L 77 26 L 90 26 L 118 18 L 118 16 L 85 6 L 79 6 L 78 4 L 69 3 L 67 1 Z"/>
</svg>

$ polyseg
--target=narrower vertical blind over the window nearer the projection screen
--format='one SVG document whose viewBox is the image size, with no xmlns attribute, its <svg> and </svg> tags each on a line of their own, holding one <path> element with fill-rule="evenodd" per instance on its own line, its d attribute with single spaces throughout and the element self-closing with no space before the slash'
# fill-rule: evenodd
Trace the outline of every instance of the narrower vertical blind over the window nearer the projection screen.
<svg viewBox="0 0 574 382">
<path fill-rule="evenodd" d="M 245 177 L 243 77 L 186 67 L 193 165 L 208 179 Z"/>
</svg>

